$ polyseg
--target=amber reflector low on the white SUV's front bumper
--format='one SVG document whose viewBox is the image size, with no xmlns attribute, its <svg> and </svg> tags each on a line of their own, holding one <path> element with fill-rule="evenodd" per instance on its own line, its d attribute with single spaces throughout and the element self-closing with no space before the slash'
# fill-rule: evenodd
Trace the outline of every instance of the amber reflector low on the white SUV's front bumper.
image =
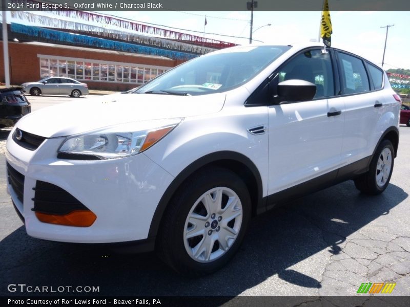
<svg viewBox="0 0 410 307">
<path fill-rule="evenodd" d="M 90 210 L 75 210 L 64 215 L 36 212 L 35 216 L 43 223 L 76 227 L 89 227 L 97 218 Z"/>
</svg>

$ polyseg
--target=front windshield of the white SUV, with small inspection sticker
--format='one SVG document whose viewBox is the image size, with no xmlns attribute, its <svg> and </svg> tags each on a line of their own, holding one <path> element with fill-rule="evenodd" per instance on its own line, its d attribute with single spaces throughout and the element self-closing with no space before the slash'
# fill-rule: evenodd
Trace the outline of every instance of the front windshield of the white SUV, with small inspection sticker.
<svg viewBox="0 0 410 307">
<path fill-rule="evenodd" d="M 179 65 L 133 93 L 204 95 L 224 92 L 249 81 L 291 47 L 226 49 Z"/>
</svg>

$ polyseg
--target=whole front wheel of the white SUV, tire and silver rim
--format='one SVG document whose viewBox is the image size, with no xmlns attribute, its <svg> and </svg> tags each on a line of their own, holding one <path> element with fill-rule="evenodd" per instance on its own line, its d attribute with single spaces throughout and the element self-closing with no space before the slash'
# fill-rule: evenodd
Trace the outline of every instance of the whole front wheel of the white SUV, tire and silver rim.
<svg viewBox="0 0 410 307">
<path fill-rule="evenodd" d="M 159 236 L 161 257 L 181 274 L 215 272 L 238 250 L 250 215 L 248 188 L 234 172 L 201 171 L 169 204 Z"/>
</svg>

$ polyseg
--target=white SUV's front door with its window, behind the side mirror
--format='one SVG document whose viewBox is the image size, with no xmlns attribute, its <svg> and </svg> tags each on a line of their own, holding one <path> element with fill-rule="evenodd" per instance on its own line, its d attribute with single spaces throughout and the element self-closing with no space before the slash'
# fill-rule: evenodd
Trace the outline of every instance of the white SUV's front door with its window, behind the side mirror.
<svg viewBox="0 0 410 307">
<path fill-rule="evenodd" d="M 278 82 L 302 79 L 316 84 L 311 101 L 269 106 L 268 193 L 332 174 L 341 163 L 344 104 L 337 96 L 332 54 L 305 50 L 275 73 Z"/>
</svg>

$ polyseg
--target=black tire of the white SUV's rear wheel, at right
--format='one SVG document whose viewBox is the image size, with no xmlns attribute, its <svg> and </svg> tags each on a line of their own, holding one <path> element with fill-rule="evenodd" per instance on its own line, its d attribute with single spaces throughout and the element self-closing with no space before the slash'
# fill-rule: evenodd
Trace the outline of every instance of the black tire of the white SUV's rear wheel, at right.
<svg viewBox="0 0 410 307">
<path fill-rule="evenodd" d="M 382 152 L 384 151 L 384 154 Z M 387 153 L 387 155 L 386 155 Z M 377 150 L 375 152 L 375 155 L 372 158 L 372 161 L 370 163 L 370 167 L 368 172 L 362 174 L 360 177 L 355 179 L 355 186 L 356 188 L 368 195 L 378 195 L 382 193 L 388 186 L 388 183 L 390 181 L 390 178 L 392 177 L 393 173 L 393 166 L 394 166 L 394 148 L 393 144 L 389 140 L 383 140 L 379 147 L 377 147 Z M 378 169 L 378 161 L 380 161 L 380 165 L 382 166 L 382 169 Z M 390 164 L 389 170 L 386 170 L 386 176 L 380 176 L 384 172 L 386 165 L 388 163 Z M 380 168 L 380 167 L 379 167 Z M 378 183 L 377 176 L 380 176 L 381 181 Z"/>
</svg>

